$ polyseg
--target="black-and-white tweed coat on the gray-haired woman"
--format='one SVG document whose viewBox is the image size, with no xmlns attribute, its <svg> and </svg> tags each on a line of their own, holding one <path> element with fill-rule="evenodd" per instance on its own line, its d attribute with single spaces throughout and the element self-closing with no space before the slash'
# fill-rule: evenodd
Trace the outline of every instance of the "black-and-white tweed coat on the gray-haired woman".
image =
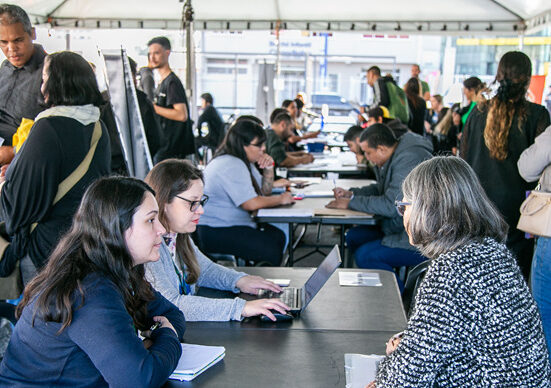
<svg viewBox="0 0 551 388">
<path fill-rule="evenodd" d="M 536 304 L 511 253 L 486 238 L 431 262 L 376 385 L 549 387 L 550 379 Z"/>
</svg>

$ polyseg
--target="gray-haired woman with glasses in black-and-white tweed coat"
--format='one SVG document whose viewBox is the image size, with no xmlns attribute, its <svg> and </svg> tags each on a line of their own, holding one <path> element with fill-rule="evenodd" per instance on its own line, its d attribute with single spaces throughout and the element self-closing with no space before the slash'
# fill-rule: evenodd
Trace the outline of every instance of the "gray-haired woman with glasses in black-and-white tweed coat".
<svg viewBox="0 0 551 388">
<path fill-rule="evenodd" d="M 474 171 L 436 157 L 402 188 L 397 208 L 410 243 L 431 263 L 406 330 L 389 341 L 369 386 L 548 387 L 537 307 Z"/>
</svg>

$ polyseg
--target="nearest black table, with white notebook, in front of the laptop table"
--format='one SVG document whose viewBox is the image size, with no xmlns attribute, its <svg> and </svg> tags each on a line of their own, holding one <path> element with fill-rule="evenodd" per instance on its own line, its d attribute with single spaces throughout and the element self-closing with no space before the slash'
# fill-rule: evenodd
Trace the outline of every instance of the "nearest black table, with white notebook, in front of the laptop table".
<svg viewBox="0 0 551 388">
<path fill-rule="evenodd" d="M 344 387 L 345 353 L 384 354 L 395 332 L 190 328 L 186 343 L 226 348 L 218 364 L 167 387 Z"/>
</svg>

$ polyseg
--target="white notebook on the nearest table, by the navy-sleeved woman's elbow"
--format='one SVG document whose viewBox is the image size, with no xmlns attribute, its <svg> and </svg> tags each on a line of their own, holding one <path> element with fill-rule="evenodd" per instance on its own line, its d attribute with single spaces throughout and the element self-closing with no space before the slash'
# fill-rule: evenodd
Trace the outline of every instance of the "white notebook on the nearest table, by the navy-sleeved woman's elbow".
<svg viewBox="0 0 551 388">
<path fill-rule="evenodd" d="M 169 378 L 190 381 L 216 364 L 226 355 L 223 346 L 182 344 L 182 356 Z"/>
</svg>

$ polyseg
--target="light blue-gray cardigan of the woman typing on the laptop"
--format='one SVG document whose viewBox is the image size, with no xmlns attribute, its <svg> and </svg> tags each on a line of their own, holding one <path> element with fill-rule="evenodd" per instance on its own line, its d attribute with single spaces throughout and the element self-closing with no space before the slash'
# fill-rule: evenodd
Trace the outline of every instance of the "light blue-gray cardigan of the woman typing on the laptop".
<svg viewBox="0 0 551 388">
<path fill-rule="evenodd" d="M 191 284 L 191 295 L 180 295 L 179 279 L 174 269 L 172 256 L 163 241 L 161 258 L 145 265 L 145 277 L 153 288 L 166 299 L 174 303 L 183 313 L 186 321 L 239 321 L 245 307 L 245 300 L 213 299 L 196 296 L 199 287 L 209 287 L 218 290 L 239 292 L 235 283 L 247 274 L 237 272 L 213 263 L 193 243 L 195 257 L 199 263 L 200 275 L 197 284 Z M 181 268 L 176 260 L 176 266 Z"/>
</svg>

